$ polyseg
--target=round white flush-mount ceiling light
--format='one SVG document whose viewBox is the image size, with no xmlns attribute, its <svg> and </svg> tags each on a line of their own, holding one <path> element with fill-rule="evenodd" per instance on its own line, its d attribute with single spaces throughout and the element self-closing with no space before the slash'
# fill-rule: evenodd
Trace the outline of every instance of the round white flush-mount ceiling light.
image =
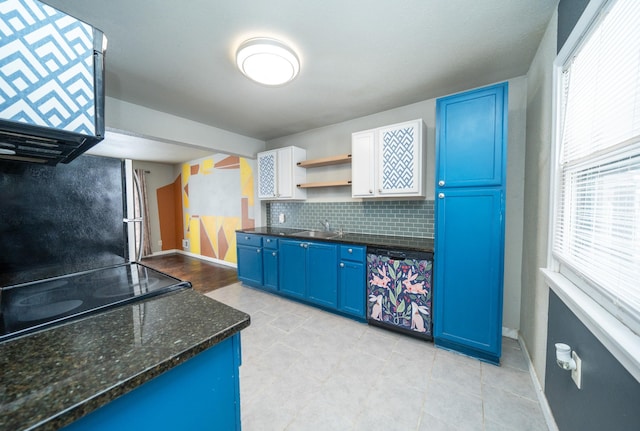
<svg viewBox="0 0 640 431">
<path fill-rule="evenodd" d="M 300 70 L 298 57 L 291 48 L 265 37 L 244 41 L 236 52 L 236 63 L 249 79 L 272 86 L 286 84 Z"/>
</svg>

